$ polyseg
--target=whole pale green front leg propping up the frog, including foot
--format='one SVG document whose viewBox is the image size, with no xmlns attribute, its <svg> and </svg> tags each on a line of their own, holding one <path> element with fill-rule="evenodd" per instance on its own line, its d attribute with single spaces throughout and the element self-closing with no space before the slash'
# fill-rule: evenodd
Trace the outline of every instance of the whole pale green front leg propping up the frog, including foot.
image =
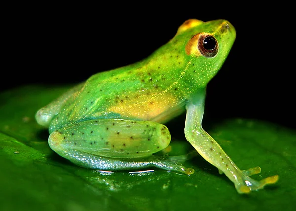
<svg viewBox="0 0 296 211">
<path fill-rule="evenodd" d="M 187 104 L 185 123 L 185 136 L 198 153 L 209 163 L 216 166 L 220 173 L 225 175 L 235 184 L 239 193 L 262 189 L 267 184 L 275 183 L 278 175 L 256 181 L 249 176 L 260 173 L 260 167 L 241 171 L 220 145 L 202 129 L 201 121 L 204 112 L 204 98 L 196 98 L 197 102 Z"/>
</svg>

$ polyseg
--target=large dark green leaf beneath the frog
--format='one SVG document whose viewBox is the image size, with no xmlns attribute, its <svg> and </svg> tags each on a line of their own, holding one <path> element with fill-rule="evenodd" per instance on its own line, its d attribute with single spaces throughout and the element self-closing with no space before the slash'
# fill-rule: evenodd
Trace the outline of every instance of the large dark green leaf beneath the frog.
<svg viewBox="0 0 296 211">
<path fill-rule="evenodd" d="M 296 200 L 296 132 L 267 122 L 232 119 L 208 133 L 241 168 L 260 166 L 275 185 L 239 195 L 225 175 L 197 156 L 185 162 L 191 176 L 161 169 L 102 172 L 75 166 L 53 152 L 36 111 L 68 87 L 27 86 L 0 94 L 0 210 L 293 210 Z M 174 126 L 180 128 L 174 128 Z M 172 153 L 192 150 L 184 124 L 169 124 Z M 177 132 L 175 132 L 177 131 Z"/>
</svg>

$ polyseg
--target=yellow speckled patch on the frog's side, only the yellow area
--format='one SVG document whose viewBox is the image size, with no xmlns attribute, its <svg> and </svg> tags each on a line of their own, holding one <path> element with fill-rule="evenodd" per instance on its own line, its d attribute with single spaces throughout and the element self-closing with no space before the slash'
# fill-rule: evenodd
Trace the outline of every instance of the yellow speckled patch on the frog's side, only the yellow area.
<svg viewBox="0 0 296 211">
<path fill-rule="evenodd" d="M 129 100 L 118 102 L 108 109 L 108 112 L 119 113 L 122 117 L 133 117 L 150 120 L 169 110 L 177 102 L 175 96 L 169 93 L 157 93 L 130 97 Z"/>
</svg>

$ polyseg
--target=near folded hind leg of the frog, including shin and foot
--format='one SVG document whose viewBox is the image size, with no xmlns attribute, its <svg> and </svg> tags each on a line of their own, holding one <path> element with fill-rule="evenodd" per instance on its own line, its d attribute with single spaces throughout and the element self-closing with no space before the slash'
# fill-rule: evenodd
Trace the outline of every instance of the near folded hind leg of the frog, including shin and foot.
<svg viewBox="0 0 296 211">
<path fill-rule="evenodd" d="M 76 165 L 100 170 L 159 167 L 194 172 L 174 161 L 152 155 L 170 143 L 166 126 L 150 121 L 95 119 L 72 124 L 49 136 L 50 147 Z"/>
</svg>

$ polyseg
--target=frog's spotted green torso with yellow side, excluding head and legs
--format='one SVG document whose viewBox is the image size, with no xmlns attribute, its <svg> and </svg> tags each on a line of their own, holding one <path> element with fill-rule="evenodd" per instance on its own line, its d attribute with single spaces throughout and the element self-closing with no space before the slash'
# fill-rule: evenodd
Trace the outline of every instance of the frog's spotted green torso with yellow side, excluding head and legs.
<svg viewBox="0 0 296 211">
<path fill-rule="evenodd" d="M 49 130 L 102 118 L 165 122 L 180 114 L 185 96 L 176 93 L 184 88 L 176 82 L 178 75 L 169 74 L 164 71 L 168 68 L 161 66 L 165 56 L 159 57 L 158 63 L 148 58 L 91 76 L 81 90 L 66 101 L 51 121 Z M 178 65 L 174 70 L 182 69 L 182 65 Z"/>
</svg>

